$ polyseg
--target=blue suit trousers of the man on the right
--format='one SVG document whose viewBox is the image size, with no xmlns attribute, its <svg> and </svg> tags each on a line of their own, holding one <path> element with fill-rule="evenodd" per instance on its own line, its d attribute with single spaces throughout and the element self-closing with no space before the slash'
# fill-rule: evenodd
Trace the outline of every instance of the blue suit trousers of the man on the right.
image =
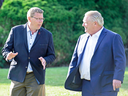
<svg viewBox="0 0 128 96">
<path fill-rule="evenodd" d="M 117 96 L 117 92 L 104 92 L 104 93 L 94 94 L 94 91 L 92 90 L 91 82 L 87 80 L 83 80 L 82 96 Z"/>
</svg>

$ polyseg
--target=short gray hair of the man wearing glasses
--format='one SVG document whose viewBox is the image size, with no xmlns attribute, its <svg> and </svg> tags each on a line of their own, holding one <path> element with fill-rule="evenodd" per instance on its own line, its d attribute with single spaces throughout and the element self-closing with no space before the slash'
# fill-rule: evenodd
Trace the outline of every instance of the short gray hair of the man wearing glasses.
<svg viewBox="0 0 128 96">
<path fill-rule="evenodd" d="M 38 7 L 32 7 L 28 10 L 27 17 L 33 17 L 35 15 L 35 13 L 42 13 L 43 14 L 43 12 L 44 11 Z"/>
</svg>

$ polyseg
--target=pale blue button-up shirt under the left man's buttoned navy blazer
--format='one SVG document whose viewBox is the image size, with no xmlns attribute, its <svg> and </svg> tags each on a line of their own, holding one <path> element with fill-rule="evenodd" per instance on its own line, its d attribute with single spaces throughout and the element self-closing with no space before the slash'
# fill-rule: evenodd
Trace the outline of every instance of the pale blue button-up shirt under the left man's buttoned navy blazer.
<svg viewBox="0 0 128 96">
<path fill-rule="evenodd" d="M 28 41 L 28 50 L 29 50 L 29 52 L 31 50 L 31 47 L 32 47 L 34 41 L 35 41 L 37 32 L 35 32 L 34 34 L 32 34 L 32 32 L 30 31 L 29 27 L 27 26 L 27 41 Z M 27 72 L 33 72 L 30 62 L 28 63 Z"/>
</svg>

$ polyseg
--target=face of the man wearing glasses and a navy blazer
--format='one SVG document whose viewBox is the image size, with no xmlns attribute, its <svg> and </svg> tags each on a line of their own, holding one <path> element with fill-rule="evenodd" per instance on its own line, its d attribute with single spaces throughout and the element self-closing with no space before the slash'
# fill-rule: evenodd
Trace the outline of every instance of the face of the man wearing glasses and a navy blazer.
<svg viewBox="0 0 128 96">
<path fill-rule="evenodd" d="M 43 24 L 43 14 L 35 13 L 33 17 L 30 17 L 31 28 L 33 30 L 39 30 Z"/>
</svg>

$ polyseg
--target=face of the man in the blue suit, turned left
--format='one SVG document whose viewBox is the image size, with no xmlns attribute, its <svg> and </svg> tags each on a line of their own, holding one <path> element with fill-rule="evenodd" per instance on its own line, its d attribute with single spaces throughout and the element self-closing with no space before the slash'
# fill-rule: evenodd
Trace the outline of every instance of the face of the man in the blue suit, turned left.
<svg viewBox="0 0 128 96">
<path fill-rule="evenodd" d="M 89 18 L 85 16 L 82 26 L 85 28 L 85 32 L 91 34 L 93 32 L 94 22 L 90 21 Z"/>
</svg>

